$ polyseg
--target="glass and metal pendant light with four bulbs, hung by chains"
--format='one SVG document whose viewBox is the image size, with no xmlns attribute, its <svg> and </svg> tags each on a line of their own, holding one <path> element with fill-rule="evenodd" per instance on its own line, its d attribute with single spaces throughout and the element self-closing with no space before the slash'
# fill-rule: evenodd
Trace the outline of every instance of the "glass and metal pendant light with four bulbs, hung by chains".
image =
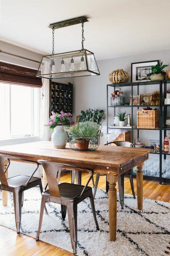
<svg viewBox="0 0 170 256">
<path fill-rule="evenodd" d="M 36 76 L 57 79 L 100 75 L 94 53 L 84 49 L 84 22 L 88 22 L 86 17 L 78 17 L 49 25 L 49 28 L 52 28 L 52 54 L 43 56 Z M 82 25 L 81 50 L 54 54 L 54 30 L 80 23 Z"/>
</svg>

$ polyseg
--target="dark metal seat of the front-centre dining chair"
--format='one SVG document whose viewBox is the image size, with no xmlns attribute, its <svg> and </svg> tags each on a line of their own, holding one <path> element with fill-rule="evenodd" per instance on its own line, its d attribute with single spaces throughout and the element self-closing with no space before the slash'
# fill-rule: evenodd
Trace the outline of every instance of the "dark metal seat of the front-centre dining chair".
<svg viewBox="0 0 170 256">
<path fill-rule="evenodd" d="M 84 186 L 64 182 L 59 184 L 58 188 L 60 191 L 61 198 L 74 199 L 80 196 Z M 87 186 L 85 192 L 89 191 L 90 189 L 92 188 Z M 42 195 L 44 196 L 49 195 L 49 190 L 43 192 Z"/>
</svg>

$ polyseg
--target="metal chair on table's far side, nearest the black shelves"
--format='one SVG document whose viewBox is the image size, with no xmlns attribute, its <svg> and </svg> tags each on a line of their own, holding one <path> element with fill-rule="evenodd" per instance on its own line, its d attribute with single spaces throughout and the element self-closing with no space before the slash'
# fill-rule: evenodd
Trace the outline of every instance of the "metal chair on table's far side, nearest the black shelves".
<svg viewBox="0 0 170 256">
<path fill-rule="evenodd" d="M 121 147 L 132 147 L 132 148 L 135 147 L 134 144 L 129 141 L 112 141 L 112 142 L 106 143 L 105 145 L 113 145 L 113 144 L 115 144 L 116 146 L 121 146 Z M 132 173 L 132 169 L 131 169 L 129 171 L 124 172 L 122 175 L 118 176 L 119 200 L 120 200 L 122 209 L 124 208 L 124 175 L 127 175 L 127 174 L 129 175 L 133 197 L 136 198 L 135 192 L 134 192 L 133 173 Z M 105 175 L 105 174 L 102 174 L 102 175 Z M 100 174 L 97 173 L 95 186 L 94 186 L 94 193 L 93 193 L 94 198 L 95 198 L 97 186 L 99 183 L 99 177 L 100 177 Z M 106 175 L 106 192 L 108 192 L 108 191 L 109 191 L 109 182 L 107 181 L 107 175 Z"/>
</svg>

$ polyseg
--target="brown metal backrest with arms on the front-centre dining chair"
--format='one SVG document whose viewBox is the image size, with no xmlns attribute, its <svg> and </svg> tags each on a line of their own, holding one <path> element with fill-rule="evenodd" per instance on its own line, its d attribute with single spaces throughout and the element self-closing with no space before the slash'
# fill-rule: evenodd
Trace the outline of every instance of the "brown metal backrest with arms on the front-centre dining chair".
<svg viewBox="0 0 170 256">
<path fill-rule="evenodd" d="M 60 195 L 60 191 L 59 191 L 59 187 L 58 187 L 58 183 L 57 183 L 57 172 L 58 172 L 59 168 L 61 168 L 62 166 L 72 167 L 73 170 L 75 168 L 78 171 L 91 172 L 91 176 L 90 176 L 89 180 L 87 181 L 85 187 L 83 188 L 81 195 L 83 194 L 87 185 L 89 184 L 89 181 L 93 177 L 93 170 L 90 168 L 83 168 L 83 167 L 76 166 L 76 165 L 68 165 L 68 164 L 57 163 L 57 162 L 46 161 L 46 160 L 38 160 L 38 163 L 43 165 L 44 171 L 46 173 L 47 183 L 48 183 L 48 187 L 49 187 L 49 194 L 51 196 L 55 196 L 58 198 L 61 198 L 61 195 Z"/>
</svg>

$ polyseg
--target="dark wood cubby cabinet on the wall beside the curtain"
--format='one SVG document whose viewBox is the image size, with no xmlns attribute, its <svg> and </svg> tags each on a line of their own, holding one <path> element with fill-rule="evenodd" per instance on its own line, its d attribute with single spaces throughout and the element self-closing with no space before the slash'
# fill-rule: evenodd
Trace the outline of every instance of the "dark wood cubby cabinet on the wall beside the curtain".
<svg viewBox="0 0 170 256">
<path fill-rule="evenodd" d="M 49 101 L 49 116 L 52 111 L 73 114 L 73 84 L 50 81 Z"/>
</svg>

